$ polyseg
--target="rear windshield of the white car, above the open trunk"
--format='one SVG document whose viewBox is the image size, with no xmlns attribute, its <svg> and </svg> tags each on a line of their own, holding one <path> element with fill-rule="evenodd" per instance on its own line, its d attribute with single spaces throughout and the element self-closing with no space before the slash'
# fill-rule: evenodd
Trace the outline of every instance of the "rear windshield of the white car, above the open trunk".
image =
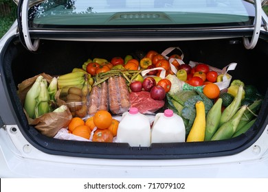
<svg viewBox="0 0 268 192">
<path fill-rule="evenodd" d="M 30 8 L 30 27 L 224 27 L 252 25 L 241 0 L 47 0 Z"/>
</svg>

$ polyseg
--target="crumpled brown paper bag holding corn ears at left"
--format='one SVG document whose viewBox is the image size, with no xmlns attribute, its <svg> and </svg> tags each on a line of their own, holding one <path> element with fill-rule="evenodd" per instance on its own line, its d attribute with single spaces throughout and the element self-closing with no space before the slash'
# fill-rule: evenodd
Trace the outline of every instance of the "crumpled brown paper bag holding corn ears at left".
<svg viewBox="0 0 268 192">
<path fill-rule="evenodd" d="M 45 73 L 41 73 L 39 75 L 43 75 L 43 77 L 47 80 L 48 84 L 52 81 L 52 76 L 50 75 L 47 75 Z M 22 105 L 24 105 L 27 91 L 30 90 L 39 75 L 24 80 L 23 82 L 21 82 L 21 84 L 18 85 L 18 95 Z M 60 91 L 57 91 L 55 97 L 56 106 L 58 107 L 65 105 L 65 101 L 59 99 L 59 95 Z M 34 125 L 34 128 L 41 132 L 41 134 L 50 137 L 54 137 L 57 134 L 58 130 L 60 130 L 61 128 L 66 128 L 72 118 L 69 108 L 67 108 L 67 110 L 65 110 L 64 112 L 48 112 L 47 114 L 42 115 L 41 117 L 38 117 L 36 119 L 31 119 L 27 115 L 27 112 L 25 110 L 24 113 L 27 117 L 29 125 Z"/>
</svg>

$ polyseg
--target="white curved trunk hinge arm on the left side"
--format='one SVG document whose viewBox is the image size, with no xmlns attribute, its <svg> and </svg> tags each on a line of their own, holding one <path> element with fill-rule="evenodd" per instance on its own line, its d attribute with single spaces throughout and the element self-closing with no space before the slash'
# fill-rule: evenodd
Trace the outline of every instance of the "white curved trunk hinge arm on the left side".
<svg viewBox="0 0 268 192">
<path fill-rule="evenodd" d="M 39 46 L 39 39 L 33 40 L 29 34 L 28 26 L 28 10 L 29 10 L 30 0 L 20 0 L 18 5 L 18 27 L 19 34 L 23 45 L 27 47 L 30 51 L 36 51 Z"/>
</svg>

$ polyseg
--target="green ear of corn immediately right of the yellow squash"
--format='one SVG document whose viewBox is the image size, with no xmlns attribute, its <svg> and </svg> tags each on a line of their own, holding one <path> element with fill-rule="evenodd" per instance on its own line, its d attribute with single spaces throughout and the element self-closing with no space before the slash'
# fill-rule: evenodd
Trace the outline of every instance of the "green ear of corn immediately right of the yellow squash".
<svg viewBox="0 0 268 192">
<path fill-rule="evenodd" d="M 213 134 L 219 128 L 222 104 L 223 99 L 219 98 L 212 108 L 210 108 L 207 116 L 205 117 L 205 141 L 210 141 Z"/>
</svg>

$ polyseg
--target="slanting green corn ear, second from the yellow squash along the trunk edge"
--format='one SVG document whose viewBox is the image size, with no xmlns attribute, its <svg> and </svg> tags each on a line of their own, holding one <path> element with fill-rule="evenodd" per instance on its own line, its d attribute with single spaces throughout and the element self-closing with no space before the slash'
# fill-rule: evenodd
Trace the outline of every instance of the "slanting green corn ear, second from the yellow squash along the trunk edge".
<svg viewBox="0 0 268 192">
<path fill-rule="evenodd" d="M 234 132 L 236 132 L 236 128 L 238 126 L 239 121 L 245 112 L 247 106 L 242 106 L 236 114 L 229 121 L 220 125 L 219 129 L 212 136 L 211 141 L 222 140 L 222 139 L 230 139 L 232 138 Z"/>
</svg>

